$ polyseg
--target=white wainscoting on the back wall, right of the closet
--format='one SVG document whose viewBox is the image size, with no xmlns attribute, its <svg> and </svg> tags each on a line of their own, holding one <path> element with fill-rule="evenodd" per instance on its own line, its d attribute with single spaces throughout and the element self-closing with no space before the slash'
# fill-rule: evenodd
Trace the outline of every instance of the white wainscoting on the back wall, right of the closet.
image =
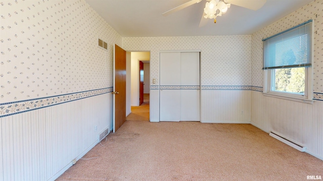
<svg viewBox="0 0 323 181">
<path fill-rule="evenodd" d="M 201 90 L 202 123 L 250 123 L 249 90 Z"/>
</svg>

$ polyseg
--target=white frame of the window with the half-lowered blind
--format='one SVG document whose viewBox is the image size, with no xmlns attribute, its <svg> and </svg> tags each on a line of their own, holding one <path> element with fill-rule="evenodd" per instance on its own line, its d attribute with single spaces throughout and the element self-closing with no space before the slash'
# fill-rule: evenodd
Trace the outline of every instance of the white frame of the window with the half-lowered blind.
<svg viewBox="0 0 323 181">
<path fill-rule="evenodd" d="M 312 21 L 312 32 L 311 32 L 311 58 L 313 60 L 313 29 L 314 29 L 314 21 Z M 290 30 L 290 29 L 289 29 Z M 283 31 L 288 32 L 289 30 Z M 281 33 L 279 33 L 281 34 Z M 279 35 L 278 34 L 278 35 Z M 274 35 L 276 36 L 276 35 Z M 272 37 L 274 37 L 272 36 Z M 271 38 L 271 37 L 270 37 Z M 269 39 L 269 38 L 267 38 Z M 266 40 L 266 39 L 264 39 Z M 263 40 L 263 61 L 265 60 L 265 43 Z M 286 67 L 288 68 L 288 67 Z M 290 67 L 296 68 L 296 67 Z M 289 92 L 280 92 L 275 91 L 272 88 L 272 84 L 275 82 L 275 70 L 278 68 L 263 68 L 263 95 L 268 97 L 274 97 L 279 99 L 297 101 L 302 103 L 313 104 L 313 88 L 312 88 L 312 66 L 304 66 L 305 68 L 305 90 L 304 95 L 297 93 L 289 93 Z M 275 86 L 275 85 L 274 85 Z"/>
</svg>

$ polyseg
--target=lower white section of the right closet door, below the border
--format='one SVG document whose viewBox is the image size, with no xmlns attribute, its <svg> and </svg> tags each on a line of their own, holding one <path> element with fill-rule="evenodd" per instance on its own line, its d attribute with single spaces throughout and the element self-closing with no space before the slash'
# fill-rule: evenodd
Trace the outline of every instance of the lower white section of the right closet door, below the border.
<svg viewBox="0 0 323 181">
<path fill-rule="evenodd" d="M 200 121 L 200 90 L 181 90 L 181 121 Z"/>
</svg>

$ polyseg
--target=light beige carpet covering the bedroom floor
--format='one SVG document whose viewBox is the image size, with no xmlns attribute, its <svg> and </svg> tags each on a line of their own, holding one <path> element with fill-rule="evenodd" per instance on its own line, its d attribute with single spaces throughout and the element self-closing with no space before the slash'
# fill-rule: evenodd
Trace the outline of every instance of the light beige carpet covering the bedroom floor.
<svg viewBox="0 0 323 181">
<path fill-rule="evenodd" d="M 306 180 L 323 161 L 250 124 L 126 121 L 58 180 Z M 93 158 L 93 159 L 89 159 Z"/>
</svg>

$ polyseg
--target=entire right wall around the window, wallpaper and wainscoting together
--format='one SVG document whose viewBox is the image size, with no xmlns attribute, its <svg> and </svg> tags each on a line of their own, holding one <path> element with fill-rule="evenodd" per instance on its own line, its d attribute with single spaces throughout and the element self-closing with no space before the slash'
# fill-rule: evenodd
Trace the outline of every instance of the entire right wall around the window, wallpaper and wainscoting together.
<svg viewBox="0 0 323 181">
<path fill-rule="evenodd" d="M 307 152 L 323 159 L 323 1 L 318 0 L 252 34 L 251 83 L 260 91 L 263 87 L 262 39 L 304 23 L 314 21 L 313 97 L 311 104 L 265 97 L 251 93 L 251 123 L 260 129 L 307 148 Z M 317 15 L 317 17 L 316 17 Z"/>
</svg>

